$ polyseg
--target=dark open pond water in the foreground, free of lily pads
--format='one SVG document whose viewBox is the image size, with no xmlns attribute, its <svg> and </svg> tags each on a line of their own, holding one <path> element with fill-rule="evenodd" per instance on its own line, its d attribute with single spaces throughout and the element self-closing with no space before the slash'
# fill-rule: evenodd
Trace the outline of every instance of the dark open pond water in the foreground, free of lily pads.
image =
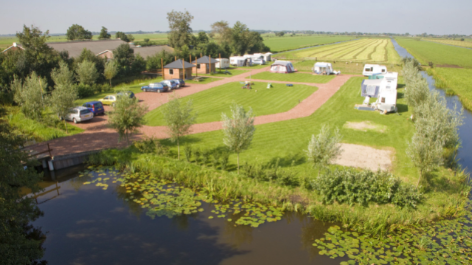
<svg viewBox="0 0 472 265">
<path fill-rule="evenodd" d="M 296 213 L 258 228 L 208 219 L 203 212 L 152 220 L 126 202 L 117 184 L 83 185 L 80 167 L 45 179 L 38 197 L 49 264 L 339 264 L 312 246 L 328 225 Z"/>
</svg>

